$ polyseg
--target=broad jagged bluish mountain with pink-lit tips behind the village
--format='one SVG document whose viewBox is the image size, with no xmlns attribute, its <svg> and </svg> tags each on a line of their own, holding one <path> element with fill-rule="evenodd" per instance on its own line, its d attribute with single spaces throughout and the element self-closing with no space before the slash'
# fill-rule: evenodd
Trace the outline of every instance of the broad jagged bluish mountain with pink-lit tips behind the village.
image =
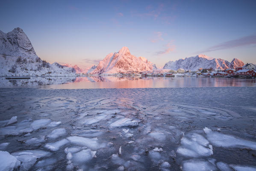
<svg viewBox="0 0 256 171">
<path fill-rule="evenodd" d="M 206 55 L 197 55 L 194 57 L 189 57 L 185 59 L 179 59 L 177 61 L 169 61 L 165 64 L 163 69 L 170 69 L 170 70 L 178 70 L 179 68 L 182 68 L 184 70 L 198 70 L 200 68 L 213 68 L 213 69 L 220 69 L 224 70 L 227 68 L 235 68 L 235 67 L 241 67 L 244 63 L 234 58 L 232 62 L 226 61 L 224 59 L 216 59 L 216 58 L 210 58 Z"/>
</svg>

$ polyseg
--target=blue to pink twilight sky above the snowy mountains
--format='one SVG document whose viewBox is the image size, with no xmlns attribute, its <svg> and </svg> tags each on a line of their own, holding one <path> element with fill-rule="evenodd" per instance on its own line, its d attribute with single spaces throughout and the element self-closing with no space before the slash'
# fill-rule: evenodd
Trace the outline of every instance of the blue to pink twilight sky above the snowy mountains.
<svg viewBox="0 0 256 171">
<path fill-rule="evenodd" d="M 97 65 L 127 46 L 163 67 L 204 54 L 256 64 L 256 0 L 1 0 L 0 30 L 20 27 L 50 63 Z"/>
</svg>

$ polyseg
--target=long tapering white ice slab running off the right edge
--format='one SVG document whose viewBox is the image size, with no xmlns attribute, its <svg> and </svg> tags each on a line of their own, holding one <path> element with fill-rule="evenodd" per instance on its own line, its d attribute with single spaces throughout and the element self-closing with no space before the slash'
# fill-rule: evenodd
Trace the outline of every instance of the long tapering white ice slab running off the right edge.
<svg viewBox="0 0 256 171">
<path fill-rule="evenodd" d="M 207 127 L 203 130 L 207 135 L 207 139 L 217 147 L 246 147 L 256 150 L 256 142 L 239 139 L 231 135 L 212 131 Z"/>
</svg>

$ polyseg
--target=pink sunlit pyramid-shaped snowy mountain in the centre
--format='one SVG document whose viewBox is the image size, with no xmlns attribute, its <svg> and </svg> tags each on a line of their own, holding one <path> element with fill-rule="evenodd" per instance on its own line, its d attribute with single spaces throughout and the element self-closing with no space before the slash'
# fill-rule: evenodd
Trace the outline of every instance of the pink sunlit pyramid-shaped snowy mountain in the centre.
<svg viewBox="0 0 256 171">
<path fill-rule="evenodd" d="M 118 52 L 109 53 L 91 74 L 114 74 L 129 71 L 142 72 L 155 70 L 156 65 L 146 58 L 131 55 L 128 47 L 122 47 Z"/>
</svg>

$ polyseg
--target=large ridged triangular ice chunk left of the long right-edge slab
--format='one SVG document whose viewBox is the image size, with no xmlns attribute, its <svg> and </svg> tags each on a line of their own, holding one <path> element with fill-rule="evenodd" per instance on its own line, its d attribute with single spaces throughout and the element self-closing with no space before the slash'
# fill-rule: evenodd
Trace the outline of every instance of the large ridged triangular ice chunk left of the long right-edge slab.
<svg viewBox="0 0 256 171">
<path fill-rule="evenodd" d="M 206 148 L 198 144 L 196 141 L 191 141 L 184 136 L 181 139 L 182 147 L 177 149 L 177 153 L 186 157 L 201 157 L 210 156 L 213 154 L 212 149 Z"/>
</svg>

